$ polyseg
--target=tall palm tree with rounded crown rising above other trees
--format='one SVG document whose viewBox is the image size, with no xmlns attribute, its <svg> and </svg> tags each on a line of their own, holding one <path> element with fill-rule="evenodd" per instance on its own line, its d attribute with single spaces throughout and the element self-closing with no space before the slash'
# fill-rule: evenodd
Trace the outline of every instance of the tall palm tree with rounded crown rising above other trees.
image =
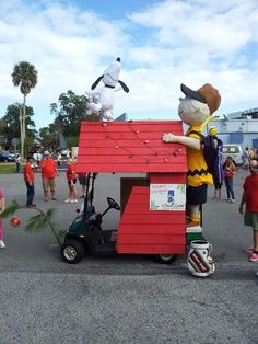
<svg viewBox="0 0 258 344">
<path fill-rule="evenodd" d="M 14 87 L 20 85 L 23 94 L 23 111 L 20 108 L 20 123 L 21 123 L 21 156 L 24 160 L 24 140 L 26 137 L 25 118 L 26 118 L 26 96 L 32 88 L 37 84 L 37 70 L 35 67 L 26 61 L 14 65 L 12 72 L 12 82 Z"/>
</svg>

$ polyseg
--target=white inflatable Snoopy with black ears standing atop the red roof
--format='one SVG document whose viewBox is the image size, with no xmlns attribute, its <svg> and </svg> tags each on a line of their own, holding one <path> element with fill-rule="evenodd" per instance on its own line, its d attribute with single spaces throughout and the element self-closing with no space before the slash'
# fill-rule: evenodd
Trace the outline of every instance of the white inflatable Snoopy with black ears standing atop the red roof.
<svg viewBox="0 0 258 344">
<path fill-rule="evenodd" d="M 119 80 L 119 74 L 121 70 L 121 59 L 118 57 L 115 62 L 113 62 L 105 71 L 104 74 L 97 78 L 93 83 L 91 91 L 86 94 L 93 99 L 96 99 L 95 102 L 90 102 L 89 107 L 93 114 L 99 114 L 102 112 L 103 118 L 106 121 L 114 121 L 113 107 L 115 92 L 120 91 L 121 89 L 128 93 L 129 88 Z M 97 84 L 102 81 L 104 87 L 96 89 Z M 95 90 L 96 89 L 96 90 Z"/>
</svg>

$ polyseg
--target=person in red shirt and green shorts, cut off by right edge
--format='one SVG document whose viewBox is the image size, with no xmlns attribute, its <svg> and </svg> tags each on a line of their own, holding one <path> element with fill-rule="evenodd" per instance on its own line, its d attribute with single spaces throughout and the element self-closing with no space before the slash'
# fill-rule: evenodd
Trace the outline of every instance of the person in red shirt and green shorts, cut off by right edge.
<svg viewBox="0 0 258 344">
<path fill-rule="evenodd" d="M 245 226 L 253 228 L 254 246 L 245 251 L 251 253 L 250 262 L 258 262 L 258 161 L 250 160 L 250 175 L 248 175 L 243 185 L 244 192 L 239 204 L 239 213 L 244 213 L 245 205 Z"/>
</svg>

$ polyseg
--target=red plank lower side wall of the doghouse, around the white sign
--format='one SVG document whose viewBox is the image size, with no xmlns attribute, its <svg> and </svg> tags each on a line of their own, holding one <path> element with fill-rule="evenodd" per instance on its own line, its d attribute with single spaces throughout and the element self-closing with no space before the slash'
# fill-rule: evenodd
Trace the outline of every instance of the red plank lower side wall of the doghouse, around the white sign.
<svg viewBox="0 0 258 344">
<path fill-rule="evenodd" d="M 185 181 L 185 173 L 150 174 L 154 184 Z M 185 236 L 185 211 L 150 210 L 150 187 L 132 187 L 118 227 L 118 253 L 184 254 Z"/>
</svg>

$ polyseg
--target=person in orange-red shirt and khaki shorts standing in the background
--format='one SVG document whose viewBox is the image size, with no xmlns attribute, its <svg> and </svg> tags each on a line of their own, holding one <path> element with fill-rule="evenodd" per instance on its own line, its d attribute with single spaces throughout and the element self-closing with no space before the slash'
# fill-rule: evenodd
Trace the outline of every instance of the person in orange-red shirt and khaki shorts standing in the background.
<svg viewBox="0 0 258 344">
<path fill-rule="evenodd" d="M 52 200 L 57 200 L 56 196 L 56 176 L 58 176 L 57 167 L 55 160 L 50 157 L 50 153 L 44 151 L 44 157 L 40 161 L 42 181 L 44 191 L 44 200 L 48 200 L 48 191 L 50 188 Z"/>
</svg>

